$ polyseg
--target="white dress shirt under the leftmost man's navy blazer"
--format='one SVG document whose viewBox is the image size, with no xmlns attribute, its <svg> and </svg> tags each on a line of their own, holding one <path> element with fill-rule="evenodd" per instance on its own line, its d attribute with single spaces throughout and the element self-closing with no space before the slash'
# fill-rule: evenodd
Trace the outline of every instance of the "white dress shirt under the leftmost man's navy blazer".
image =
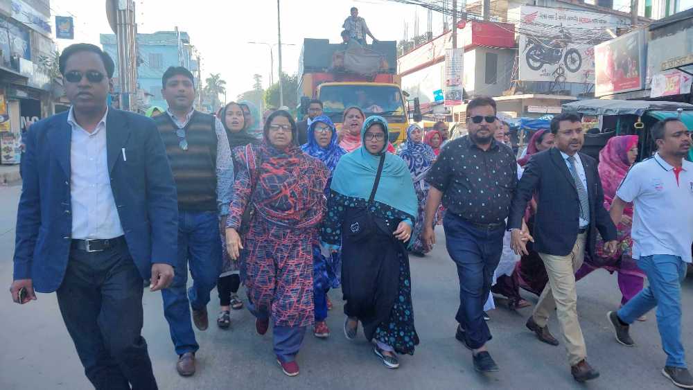
<svg viewBox="0 0 693 390">
<path fill-rule="evenodd" d="M 123 236 L 108 172 L 107 114 L 108 109 L 91 133 L 78 125 L 72 108 L 67 117 L 67 123 L 72 127 L 70 194 L 74 240 L 106 240 Z"/>
</svg>

